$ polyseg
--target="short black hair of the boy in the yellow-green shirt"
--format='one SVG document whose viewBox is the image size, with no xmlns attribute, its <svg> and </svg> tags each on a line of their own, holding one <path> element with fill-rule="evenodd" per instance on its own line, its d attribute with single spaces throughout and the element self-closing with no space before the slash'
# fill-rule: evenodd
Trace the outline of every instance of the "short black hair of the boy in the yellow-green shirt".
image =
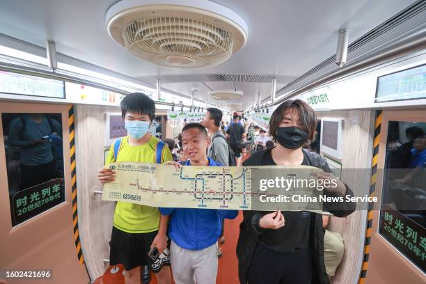
<svg viewBox="0 0 426 284">
<path fill-rule="evenodd" d="M 127 112 L 145 114 L 151 121 L 155 119 L 155 102 L 143 93 L 131 93 L 126 95 L 120 103 L 123 119 Z"/>
</svg>

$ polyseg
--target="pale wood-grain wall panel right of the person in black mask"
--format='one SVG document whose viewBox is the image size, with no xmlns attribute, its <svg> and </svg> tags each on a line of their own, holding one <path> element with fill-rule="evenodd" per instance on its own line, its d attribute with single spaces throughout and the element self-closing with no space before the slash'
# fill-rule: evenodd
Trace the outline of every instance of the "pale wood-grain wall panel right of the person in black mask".
<svg viewBox="0 0 426 284">
<path fill-rule="evenodd" d="M 368 169 L 372 157 L 373 111 L 327 111 L 317 113 L 319 118 L 342 118 L 342 168 Z M 366 171 L 366 170 L 364 170 Z M 342 179 L 349 184 L 356 196 L 368 194 L 367 175 L 342 172 Z M 356 210 L 346 218 L 331 217 L 328 229 L 339 232 L 345 242 L 345 255 L 331 283 L 357 283 L 363 260 L 367 211 Z"/>
</svg>

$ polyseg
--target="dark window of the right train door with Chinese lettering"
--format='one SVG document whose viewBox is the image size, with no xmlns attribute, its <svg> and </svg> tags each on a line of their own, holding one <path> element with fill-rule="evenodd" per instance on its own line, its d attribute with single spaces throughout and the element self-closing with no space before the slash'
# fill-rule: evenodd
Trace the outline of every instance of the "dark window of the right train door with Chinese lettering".
<svg viewBox="0 0 426 284">
<path fill-rule="evenodd" d="M 426 123 L 390 121 L 379 233 L 426 272 Z"/>
</svg>

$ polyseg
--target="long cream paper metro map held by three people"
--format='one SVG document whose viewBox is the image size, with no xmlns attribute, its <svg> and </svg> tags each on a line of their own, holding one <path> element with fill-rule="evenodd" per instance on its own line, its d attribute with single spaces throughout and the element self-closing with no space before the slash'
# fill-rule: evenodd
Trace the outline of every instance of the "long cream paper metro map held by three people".
<svg viewBox="0 0 426 284">
<path fill-rule="evenodd" d="M 153 207 L 322 212 L 310 166 L 175 166 L 114 163 L 102 200 Z"/>
</svg>

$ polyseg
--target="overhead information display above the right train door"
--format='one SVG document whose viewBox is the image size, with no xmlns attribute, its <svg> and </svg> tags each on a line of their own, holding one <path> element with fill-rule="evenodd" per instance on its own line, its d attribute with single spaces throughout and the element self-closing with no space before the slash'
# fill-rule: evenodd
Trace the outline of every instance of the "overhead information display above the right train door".
<svg viewBox="0 0 426 284">
<path fill-rule="evenodd" d="M 426 98 L 426 65 L 377 78 L 375 102 Z"/>
</svg>

